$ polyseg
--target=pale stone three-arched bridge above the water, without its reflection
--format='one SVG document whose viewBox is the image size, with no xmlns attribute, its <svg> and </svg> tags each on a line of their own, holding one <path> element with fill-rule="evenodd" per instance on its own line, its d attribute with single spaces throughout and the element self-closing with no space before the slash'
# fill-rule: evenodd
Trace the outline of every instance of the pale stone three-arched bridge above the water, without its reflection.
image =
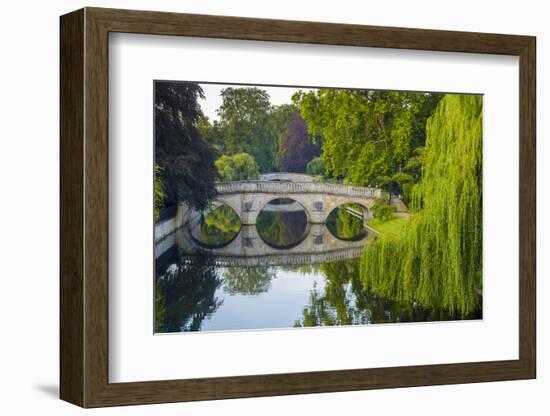
<svg viewBox="0 0 550 416">
<path fill-rule="evenodd" d="M 278 198 L 298 202 L 312 224 L 324 223 L 332 210 L 342 204 L 357 203 L 364 209 L 365 219 L 380 197 L 381 190 L 322 182 L 290 182 L 282 180 L 221 182 L 216 186 L 216 201 L 229 205 L 243 225 L 256 223 L 262 208 Z"/>
</svg>

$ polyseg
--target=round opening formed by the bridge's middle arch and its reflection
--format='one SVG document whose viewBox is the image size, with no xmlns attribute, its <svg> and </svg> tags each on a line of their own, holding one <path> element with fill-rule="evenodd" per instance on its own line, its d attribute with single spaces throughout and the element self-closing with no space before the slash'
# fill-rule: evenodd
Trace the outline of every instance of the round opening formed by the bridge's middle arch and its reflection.
<svg viewBox="0 0 550 416">
<path fill-rule="evenodd" d="M 308 231 L 307 214 L 296 201 L 279 198 L 269 202 L 258 214 L 256 229 L 272 247 L 286 249 L 300 244 Z"/>
</svg>

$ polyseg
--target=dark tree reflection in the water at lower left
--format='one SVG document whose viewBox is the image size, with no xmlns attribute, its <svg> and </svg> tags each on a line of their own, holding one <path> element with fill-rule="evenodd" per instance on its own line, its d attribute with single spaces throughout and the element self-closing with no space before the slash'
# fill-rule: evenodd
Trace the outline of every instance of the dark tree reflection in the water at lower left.
<svg viewBox="0 0 550 416">
<path fill-rule="evenodd" d="M 223 303 L 214 258 L 199 253 L 192 262 L 171 264 L 156 278 L 155 332 L 199 331 Z"/>
</svg>

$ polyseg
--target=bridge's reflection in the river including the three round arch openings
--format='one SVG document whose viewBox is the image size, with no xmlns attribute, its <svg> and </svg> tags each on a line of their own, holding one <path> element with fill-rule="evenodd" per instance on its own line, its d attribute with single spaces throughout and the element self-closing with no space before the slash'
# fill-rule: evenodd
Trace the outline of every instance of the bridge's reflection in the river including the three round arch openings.
<svg viewBox="0 0 550 416">
<path fill-rule="evenodd" d="M 233 210 L 217 205 L 157 243 L 155 257 L 175 246 L 187 261 L 206 251 L 216 264 L 250 267 L 321 264 L 361 255 L 369 235 L 359 211 L 346 206 L 334 219 L 329 216 L 328 224 L 311 224 L 297 202 L 275 202 L 262 209 L 256 225 L 241 225 Z M 347 230 L 338 216 L 348 221 Z"/>
</svg>

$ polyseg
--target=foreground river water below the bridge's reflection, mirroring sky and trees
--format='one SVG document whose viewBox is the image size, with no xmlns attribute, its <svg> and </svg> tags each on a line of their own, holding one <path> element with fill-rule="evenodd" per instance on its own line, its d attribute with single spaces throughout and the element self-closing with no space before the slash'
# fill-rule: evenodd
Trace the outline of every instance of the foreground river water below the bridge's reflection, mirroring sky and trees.
<svg viewBox="0 0 550 416">
<path fill-rule="evenodd" d="M 359 259 L 249 268 L 214 267 L 215 256 L 208 253 L 193 259 L 159 273 L 156 332 L 460 319 L 366 292 L 359 280 Z"/>
</svg>

